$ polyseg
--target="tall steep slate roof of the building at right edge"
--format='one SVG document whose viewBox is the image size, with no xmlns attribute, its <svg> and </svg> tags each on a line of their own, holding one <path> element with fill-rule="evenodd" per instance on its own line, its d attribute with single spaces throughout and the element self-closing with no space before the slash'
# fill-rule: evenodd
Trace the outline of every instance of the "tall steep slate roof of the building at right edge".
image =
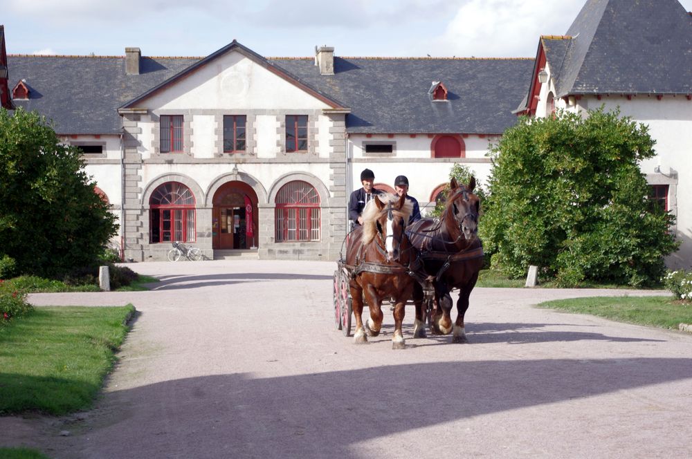
<svg viewBox="0 0 692 459">
<path fill-rule="evenodd" d="M 588 0 L 542 44 L 556 96 L 692 93 L 692 17 L 677 0 Z"/>
</svg>

